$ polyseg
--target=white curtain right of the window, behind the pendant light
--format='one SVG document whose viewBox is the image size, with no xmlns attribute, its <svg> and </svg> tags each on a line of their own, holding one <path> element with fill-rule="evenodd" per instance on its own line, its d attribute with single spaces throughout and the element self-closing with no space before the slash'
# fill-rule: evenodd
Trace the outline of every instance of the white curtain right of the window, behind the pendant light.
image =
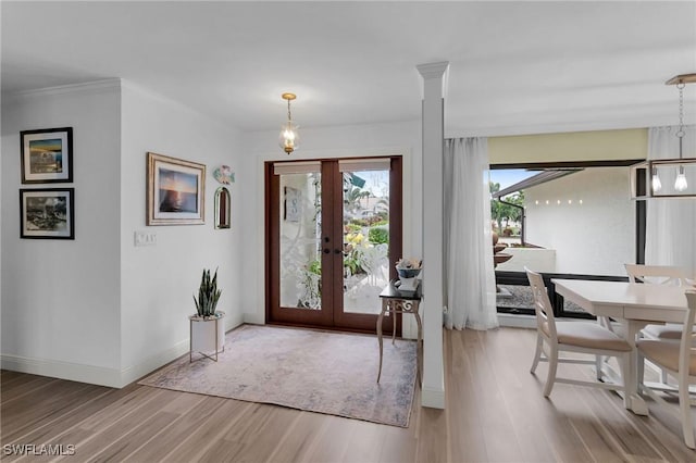
<svg viewBox="0 0 696 463">
<path fill-rule="evenodd" d="M 678 129 L 651 127 L 648 159 L 679 158 Z M 683 157 L 696 158 L 696 126 L 684 132 Z M 696 275 L 696 199 L 649 200 L 645 241 L 646 264 L 680 266 Z"/>
</svg>

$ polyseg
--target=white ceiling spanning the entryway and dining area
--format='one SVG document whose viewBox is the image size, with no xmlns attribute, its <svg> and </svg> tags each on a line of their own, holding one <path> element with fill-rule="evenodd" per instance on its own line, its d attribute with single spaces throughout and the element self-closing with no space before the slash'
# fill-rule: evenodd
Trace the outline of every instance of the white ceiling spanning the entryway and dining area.
<svg viewBox="0 0 696 463">
<path fill-rule="evenodd" d="M 696 2 L 1 2 L 2 92 L 121 77 L 241 130 L 420 117 L 446 136 L 674 125 Z M 696 121 L 696 85 L 685 89 Z"/>
</svg>

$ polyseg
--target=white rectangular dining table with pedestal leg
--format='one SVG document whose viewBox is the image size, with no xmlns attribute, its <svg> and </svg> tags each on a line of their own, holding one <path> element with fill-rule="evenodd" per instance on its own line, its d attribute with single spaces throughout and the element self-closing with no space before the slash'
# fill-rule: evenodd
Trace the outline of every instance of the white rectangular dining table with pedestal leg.
<svg viewBox="0 0 696 463">
<path fill-rule="evenodd" d="M 624 326 L 626 341 L 633 348 L 623 378 L 626 386 L 624 404 L 639 415 L 648 409 L 638 391 L 638 355 L 635 338 L 648 324 L 683 323 L 687 310 L 685 287 L 644 285 L 627 281 L 554 278 L 556 292 L 596 316 L 614 318 Z"/>
</svg>

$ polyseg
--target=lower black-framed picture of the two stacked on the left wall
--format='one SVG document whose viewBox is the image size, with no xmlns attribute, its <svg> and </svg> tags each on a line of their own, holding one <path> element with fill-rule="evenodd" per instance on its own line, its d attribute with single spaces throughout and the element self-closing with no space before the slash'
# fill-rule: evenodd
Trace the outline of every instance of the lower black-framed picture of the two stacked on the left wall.
<svg viewBox="0 0 696 463">
<path fill-rule="evenodd" d="M 21 238 L 75 239 L 75 189 L 20 189 Z"/>
</svg>

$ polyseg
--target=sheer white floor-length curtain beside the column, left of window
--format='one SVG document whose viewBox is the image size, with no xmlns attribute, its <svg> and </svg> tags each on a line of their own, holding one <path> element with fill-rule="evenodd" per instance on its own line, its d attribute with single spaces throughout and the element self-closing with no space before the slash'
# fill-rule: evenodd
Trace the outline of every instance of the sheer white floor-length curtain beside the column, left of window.
<svg viewBox="0 0 696 463">
<path fill-rule="evenodd" d="M 445 140 L 445 326 L 498 326 L 493 271 L 488 140 Z"/>
</svg>

